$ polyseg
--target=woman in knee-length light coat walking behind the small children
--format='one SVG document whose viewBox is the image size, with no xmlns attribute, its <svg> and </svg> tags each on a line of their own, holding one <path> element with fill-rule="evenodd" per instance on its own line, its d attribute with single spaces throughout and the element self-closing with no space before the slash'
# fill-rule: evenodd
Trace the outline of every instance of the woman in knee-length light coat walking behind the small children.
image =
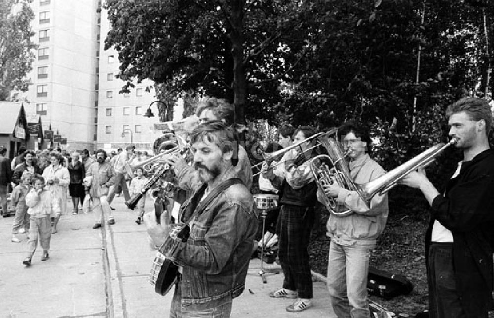
<svg viewBox="0 0 494 318">
<path fill-rule="evenodd" d="M 43 171 L 43 178 L 46 182 L 46 189 L 58 200 L 60 212 L 52 215 L 52 233 L 57 233 L 57 224 L 61 214 L 67 214 L 67 190 L 70 183 L 69 170 L 63 166 L 63 156 L 60 153 L 50 154 L 51 164 Z"/>
</svg>

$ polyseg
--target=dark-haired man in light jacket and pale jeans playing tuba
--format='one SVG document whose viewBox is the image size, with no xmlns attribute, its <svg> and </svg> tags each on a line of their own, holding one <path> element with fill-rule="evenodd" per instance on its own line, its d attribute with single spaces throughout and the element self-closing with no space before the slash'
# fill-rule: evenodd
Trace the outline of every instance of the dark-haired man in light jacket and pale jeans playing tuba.
<svg viewBox="0 0 494 318">
<path fill-rule="evenodd" d="M 371 140 L 365 127 L 346 122 L 338 129 L 338 139 L 350 160 L 350 175 L 355 183 L 367 183 L 384 174 L 384 169 L 366 153 Z M 375 195 L 369 208 L 355 191 L 337 184 L 324 188 L 327 196 L 352 211 L 346 216 L 331 214 L 327 224 L 331 238 L 328 289 L 332 311 L 329 317 L 370 317 L 367 300 L 369 258 L 386 225 L 387 195 Z M 318 197 L 320 195 L 318 192 Z"/>
</svg>

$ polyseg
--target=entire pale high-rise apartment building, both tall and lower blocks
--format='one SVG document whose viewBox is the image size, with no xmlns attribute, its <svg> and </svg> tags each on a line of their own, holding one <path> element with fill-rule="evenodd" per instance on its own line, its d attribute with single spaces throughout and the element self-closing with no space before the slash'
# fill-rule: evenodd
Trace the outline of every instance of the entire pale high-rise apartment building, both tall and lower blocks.
<svg viewBox="0 0 494 318">
<path fill-rule="evenodd" d="M 41 115 L 43 130 L 67 138 L 68 150 L 115 150 L 131 142 L 138 150 L 151 150 L 162 130 L 153 82 L 134 83 L 120 94 L 118 52 L 105 50 L 111 28 L 101 0 L 34 0 L 33 42 L 39 45 L 33 84 L 17 98 L 25 100 L 27 114 Z M 146 89 L 146 87 L 150 89 Z M 151 104 L 155 117 L 143 115 Z M 174 119 L 183 107 L 174 106 Z"/>
</svg>

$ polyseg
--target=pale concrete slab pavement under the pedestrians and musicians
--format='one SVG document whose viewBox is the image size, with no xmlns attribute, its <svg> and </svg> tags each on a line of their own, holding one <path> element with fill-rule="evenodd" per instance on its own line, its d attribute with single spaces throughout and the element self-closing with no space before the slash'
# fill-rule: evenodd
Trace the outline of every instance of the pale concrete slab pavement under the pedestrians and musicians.
<svg viewBox="0 0 494 318">
<path fill-rule="evenodd" d="M 31 267 L 22 265 L 26 234 L 19 235 L 22 243 L 12 243 L 13 217 L 0 218 L 0 317 L 168 317 L 172 292 L 160 296 L 148 280 L 156 252 L 145 227 L 134 223 L 137 212 L 128 210 L 122 197 L 112 205 L 116 224 L 99 230 L 91 229 L 92 214 L 62 216 L 51 237 L 50 259 L 41 262 L 38 249 Z M 251 260 L 252 273 L 246 291 L 233 301 L 232 317 L 327 317 L 325 283 L 314 282 L 312 308 L 291 314 L 285 307 L 292 300 L 268 296 L 282 286 L 283 274 L 263 283 L 259 268 L 260 260 Z"/>
</svg>

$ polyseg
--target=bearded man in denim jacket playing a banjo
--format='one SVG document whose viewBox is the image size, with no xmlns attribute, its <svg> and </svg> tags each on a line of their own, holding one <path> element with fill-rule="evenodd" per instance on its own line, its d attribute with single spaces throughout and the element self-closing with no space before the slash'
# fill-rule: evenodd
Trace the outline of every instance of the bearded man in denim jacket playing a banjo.
<svg viewBox="0 0 494 318">
<path fill-rule="evenodd" d="M 179 216 L 182 222 L 191 217 L 196 204 L 209 192 L 236 177 L 232 165 L 236 142 L 233 130 L 220 121 L 200 124 L 194 129 L 191 150 L 202 184 L 182 205 Z M 232 299 L 245 288 L 257 230 L 253 204 L 244 184 L 230 186 L 194 217 L 186 241 L 170 233 L 167 217 L 162 216 L 158 225 L 154 213 L 144 216 L 153 243 L 161 246 L 165 257 L 181 268 L 170 317 L 230 317 Z"/>
</svg>

